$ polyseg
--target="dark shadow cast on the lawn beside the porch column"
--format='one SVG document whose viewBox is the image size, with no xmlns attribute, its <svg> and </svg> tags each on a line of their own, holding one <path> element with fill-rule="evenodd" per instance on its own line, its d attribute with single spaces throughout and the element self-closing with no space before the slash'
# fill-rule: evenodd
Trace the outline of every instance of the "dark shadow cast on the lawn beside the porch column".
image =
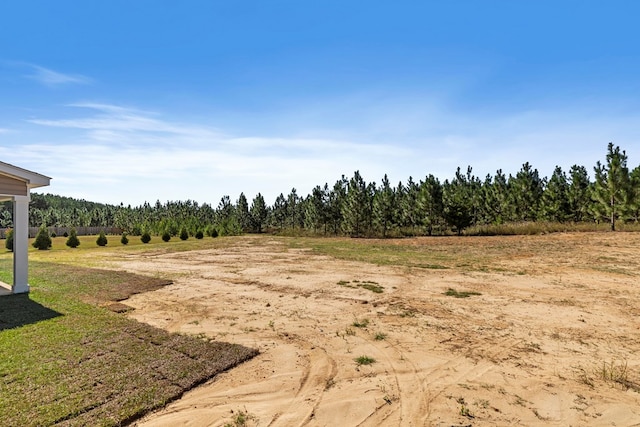
<svg viewBox="0 0 640 427">
<path fill-rule="evenodd" d="M 29 294 L 0 297 L 0 331 L 62 316 L 29 298 Z"/>
</svg>

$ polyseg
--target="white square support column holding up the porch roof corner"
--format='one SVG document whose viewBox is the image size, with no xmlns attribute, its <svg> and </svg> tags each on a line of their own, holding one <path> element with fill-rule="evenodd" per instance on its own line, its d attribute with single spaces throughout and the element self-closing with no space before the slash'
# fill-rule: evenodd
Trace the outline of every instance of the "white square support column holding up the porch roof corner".
<svg viewBox="0 0 640 427">
<path fill-rule="evenodd" d="M 13 286 L 11 292 L 29 292 L 29 200 L 13 197 Z"/>
</svg>

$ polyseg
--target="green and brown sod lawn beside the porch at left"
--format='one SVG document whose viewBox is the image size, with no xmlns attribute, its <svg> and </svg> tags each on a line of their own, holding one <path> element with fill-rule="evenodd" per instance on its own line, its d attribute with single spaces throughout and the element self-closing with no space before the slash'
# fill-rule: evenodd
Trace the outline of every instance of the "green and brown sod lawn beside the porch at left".
<svg viewBox="0 0 640 427">
<path fill-rule="evenodd" d="M 29 295 L 0 298 L 0 425 L 126 424 L 257 354 L 102 307 L 169 282 L 79 266 L 107 248 L 64 240 L 30 254 Z M 0 254 L 0 280 L 11 282 L 11 268 L 11 254 Z"/>
</svg>

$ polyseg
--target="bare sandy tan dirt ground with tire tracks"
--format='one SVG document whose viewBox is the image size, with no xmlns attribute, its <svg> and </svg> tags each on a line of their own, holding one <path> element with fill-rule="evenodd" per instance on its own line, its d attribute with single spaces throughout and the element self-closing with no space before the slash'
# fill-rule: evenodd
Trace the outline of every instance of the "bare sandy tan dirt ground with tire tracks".
<svg viewBox="0 0 640 427">
<path fill-rule="evenodd" d="M 487 269 L 377 266 L 269 237 L 128 255 L 120 268 L 175 281 L 131 297 L 130 316 L 261 352 L 136 425 L 640 425 L 640 235 L 394 244 L 483 242 L 506 248 Z"/>
</svg>

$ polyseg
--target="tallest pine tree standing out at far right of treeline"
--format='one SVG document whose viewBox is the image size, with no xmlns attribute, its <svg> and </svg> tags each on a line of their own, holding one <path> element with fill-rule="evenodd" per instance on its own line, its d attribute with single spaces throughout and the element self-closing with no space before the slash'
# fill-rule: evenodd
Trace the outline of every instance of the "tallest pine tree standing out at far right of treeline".
<svg viewBox="0 0 640 427">
<path fill-rule="evenodd" d="M 627 154 L 610 142 L 606 161 L 606 166 L 598 161 L 594 167 L 593 213 L 598 219 L 608 219 L 611 231 L 615 231 L 616 221 L 624 217 L 632 202 Z"/>
</svg>

